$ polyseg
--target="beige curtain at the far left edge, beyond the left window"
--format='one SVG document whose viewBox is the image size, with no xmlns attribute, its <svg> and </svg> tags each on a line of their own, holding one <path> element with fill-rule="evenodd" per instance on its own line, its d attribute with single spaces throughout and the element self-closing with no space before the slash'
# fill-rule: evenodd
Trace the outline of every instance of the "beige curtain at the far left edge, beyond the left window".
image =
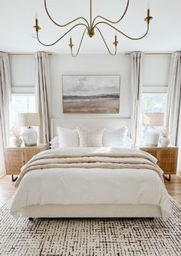
<svg viewBox="0 0 181 256">
<path fill-rule="evenodd" d="M 0 52 L 0 176 L 5 173 L 4 147 L 9 143 L 11 76 L 8 54 Z"/>
</svg>

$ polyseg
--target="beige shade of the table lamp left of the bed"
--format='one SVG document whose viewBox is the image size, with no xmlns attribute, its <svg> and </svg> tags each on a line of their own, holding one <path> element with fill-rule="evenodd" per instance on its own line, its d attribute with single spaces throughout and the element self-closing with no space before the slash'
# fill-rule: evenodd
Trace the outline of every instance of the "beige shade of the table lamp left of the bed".
<svg viewBox="0 0 181 256">
<path fill-rule="evenodd" d="M 38 113 L 19 113 L 18 114 L 18 125 L 19 126 L 39 126 L 39 115 Z"/>
</svg>

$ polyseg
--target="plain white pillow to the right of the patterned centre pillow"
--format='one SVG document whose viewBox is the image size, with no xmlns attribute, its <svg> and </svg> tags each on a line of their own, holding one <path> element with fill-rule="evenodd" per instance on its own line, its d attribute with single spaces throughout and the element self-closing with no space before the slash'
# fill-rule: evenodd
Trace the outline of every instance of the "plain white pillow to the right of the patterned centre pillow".
<svg viewBox="0 0 181 256">
<path fill-rule="evenodd" d="M 110 148 L 123 148 L 127 131 L 127 127 L 121 127 L 113 131 L 105 130 L 103 136 L 103 146 Z"/>
</svg>

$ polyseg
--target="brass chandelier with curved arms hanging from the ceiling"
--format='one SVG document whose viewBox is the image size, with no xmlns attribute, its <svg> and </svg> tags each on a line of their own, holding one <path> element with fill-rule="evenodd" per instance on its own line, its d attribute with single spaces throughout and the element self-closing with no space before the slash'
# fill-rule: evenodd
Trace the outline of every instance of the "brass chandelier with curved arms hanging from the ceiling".
<svg viewBox="0 0 181 256">
<path fill-rule="evenodd" d="M 118 24 L 123 19 L 123 17 L 126 15 L 128 7 L 129 7 L 129 3 L 130 3 L 130 0 L 127 0 L 127 6 L 126 6 L 126 8 L 125 8 L 125 10 L 123 12 L 123 15 L 121 15 L 121 17 L 118 19 L 118 21 L 113 22 L 113 21 L 110 21 L 108 18 L 104 18 L 103 16 L 100 16 L 100 15 L 96 16 L 95 18 L 93 18 L 92 17 L 92 0 L 90 0 L 90 22 L 88 22 L 87 19 L 84 18 L 84 17 L 77 17 L 74 20 L 72 20 L 71 22 L 67 22 L 64 25 L 61 25 L 61 24 L 58 24 L 57 22 L 54 22 L 54 19 L 51 17 L 50 13 L 48 12 L 47 1 L 44 0 L 44 8 L 45 8 L 45 11 L 47 12 L 48 17 L 51 19 L 51 22 L 53 22 L 58 27 L 61 27 L 61 28 L 62 27 L 66 27 L 67 25 L 75 23 L 78 20 L 81 20 L 81 22 L 77 23 L 77 24 L 74 24 L 72 26 L 72 28 L 68 29 L 67 32 L 64 33 L 64 35 L 61 35 L 61 37 L 58 38 L 55 42 L 52 42 L 51 44 L 44 44 L 43 42 L 41 42 L 41 40 L 39 38 L 39 33 L 38 32 L 41 29 L 41 27 L 38 25 L 38 18 L 35 18 L 35 26 L 34 26 L 34 28 L 36 30 L 36 35 L 37 35 L 37 38 L 38 38 L 38 42 L 40 42 L 41 45 L 44 45 L 44 46 L 55 45 L 56 43 L 61 41 L 61 39 L 64 38 L 65 35 L 70 33 L 74 28 L 76 28 L 78 26 L 82 26 L 82 27 L 84 27 L 84 32 L 83 32 L 83 34 L 81 36 L 81 42 L 78 45 L 76 53 L 73 52 L 74 44 L 73 44 L 72 38 L 70 37 L 69 47 L 71 48 L 71 55 L 72 55 L 72 57 L 77 57 L 77 55 L 79 54 L 80 49 L 81 49 L 81 45 L 82 45 L 82 42 L 83 42 L 83 39 L 84 39 L 85 32 L 87 32 L 87 35 L 90 38 L 92 38 L 94 36 L 94 34 L 95 34 L 95 31 L 97 31 L 100 34 L 100 37 L 102 38 L 102 40 L 103 40 L 103 42 L 104 42 L 104 44 L 105 44 L 105 46 L 107 48 L 107 51 L 110 53 L 110 55 L 116 55 L 117 54 L 117 45 L 119 43 L 117 41 L 117 35 L 115 35 L 114 42 L 113 42 L 113 44 L 114 44 L 114 52 L 111 52 L 110 48 L 108 47 L 107 42 L 106 42 L 106 40 L 104 38 L 104 35 L 100 31 L 99 25 L 104 24 L 104 25 L 109 26 L 110 28 L 114 28 L 115 32 L 118 32 L 121 35 L 123 35 L 123 36 L 125 36 L 125 37 L 127 37 L 127 38 L 129 38 L 131 40 L 140 40 L 140 39 L 144 38 L 148 34 L 149 28 L 150 28 L 150 20 L 153 18 L 153 17 L 150 16 L 150 8 L 147 8 L 147 16 L 146 16 L 146 18 L 144 18 L 144 21 L 147 23 L 146 32 L 143 35 L 141 35 L 140 37 L 138 37 L 138 38 L 130 37 L 129 35 L 121 32 L 118 28 L 114 27 L 114 25 Z M 97 21 L 98 18 L 100 19 L 100 21 Z"/>
</svg>

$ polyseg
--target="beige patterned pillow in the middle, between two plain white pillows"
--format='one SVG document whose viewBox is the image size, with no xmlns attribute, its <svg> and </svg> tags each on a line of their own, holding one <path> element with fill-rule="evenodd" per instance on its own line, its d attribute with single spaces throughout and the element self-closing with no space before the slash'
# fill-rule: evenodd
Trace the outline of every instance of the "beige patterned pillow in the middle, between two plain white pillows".
<svg viewBox="0 0 181 256">
<path fill-rule="evenodd" d="M 104 128 L 92 131 L 84 127 L 77 127 L 80 147 L 102 147 Z"/>
</svg>

